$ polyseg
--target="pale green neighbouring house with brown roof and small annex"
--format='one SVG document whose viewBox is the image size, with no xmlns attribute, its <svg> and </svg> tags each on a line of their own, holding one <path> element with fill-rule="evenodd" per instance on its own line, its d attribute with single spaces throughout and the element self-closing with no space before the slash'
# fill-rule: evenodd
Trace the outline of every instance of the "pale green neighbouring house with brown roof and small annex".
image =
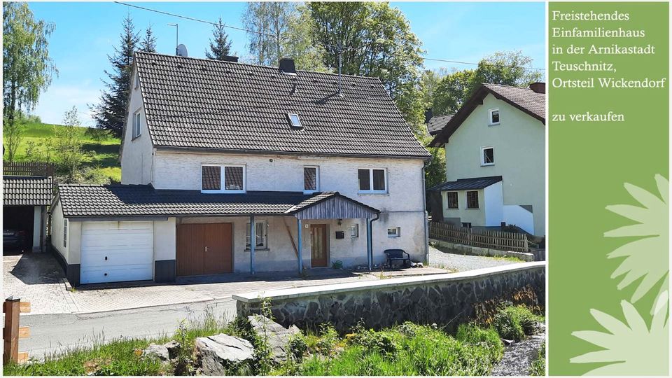
<svg viewBox="0 0 672 378">
<path fill-rule="evenodd" d="M 484 84 L 436 134 L 447 182 L 430 190 L 441 193 L 444 222 L 545 235 L 545 92 Z"/>
</svg>

